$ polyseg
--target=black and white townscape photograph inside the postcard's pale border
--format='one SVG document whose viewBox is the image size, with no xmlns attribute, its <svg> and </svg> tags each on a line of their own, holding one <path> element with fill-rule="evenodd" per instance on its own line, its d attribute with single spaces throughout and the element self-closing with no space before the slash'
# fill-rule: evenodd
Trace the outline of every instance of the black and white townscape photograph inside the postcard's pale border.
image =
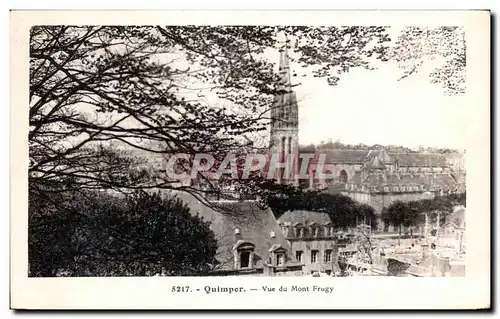
<svg viewBox="0 0 500 319">
<path fill-rule="evenodd" d="M 467 276 L 465 23 L 154 22 L 22 39 L 28 279 Z"/>
</svg>

